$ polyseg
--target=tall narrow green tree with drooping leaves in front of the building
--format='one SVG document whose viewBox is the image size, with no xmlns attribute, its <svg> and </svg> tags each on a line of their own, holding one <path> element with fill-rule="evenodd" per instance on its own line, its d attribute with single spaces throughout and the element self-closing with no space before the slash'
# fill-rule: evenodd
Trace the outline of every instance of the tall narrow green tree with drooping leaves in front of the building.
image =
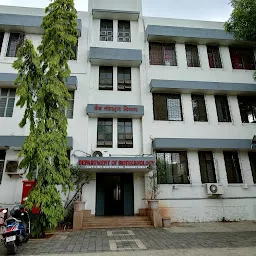
<svg viewBox="0 0 256 256">
<path fill-rule="evenodd" d="M 20 168 L 28 179 L 36 178 L 26 206 L 40 208 L 40 233 L 57 226 L 64 217 L 60 190 L 72 187 L 67 156 L 67 118 L 70 95 L 65 85 L 70 76 L 68 60 L 77 44 L 77 11 L 73 0 L 54 0 L 45 9 L 44 34 L 38 52 L 25 39 L 13 67 L 18 70 L 17 106 L 25 107 L 20 127 L 30 132 L 21 149 Z"/>
</svg>

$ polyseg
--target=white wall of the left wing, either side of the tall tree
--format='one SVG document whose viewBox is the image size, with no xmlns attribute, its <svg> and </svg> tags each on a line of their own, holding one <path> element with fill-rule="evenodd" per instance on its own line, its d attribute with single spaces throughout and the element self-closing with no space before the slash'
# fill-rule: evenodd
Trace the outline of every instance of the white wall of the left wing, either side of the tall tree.
<svg viewBox="0 0 256 256">
<path fill-rule="evenodd" d="M 13 14 L 25 14 L 25 15 L 38 15 L 44 14 L 43 9 L 34 8 L 20 8 L 20 7 L 1 7 L 1 13 L 13 13 Z M 77 90 L 75 90 L 75 105 L 73 119 L 68 119 L 68 135 L 73 137 L 73 152 L 77 149 L 84 152 L 87 151 L 87 129 L 88 118 L 86 115 L 86 97 L 89 92 L 89 75 L 88 75 L 88 30 L 89 30 L 89 15 L 88 13 L 79 13 L 79 18 L 82 20 L 82 36 L 79 38 L 78 58 L 69 62 L 71 75 L 76 76 L 78 80 Z M 37 48 L 41 42 L 41 35 L 26 34 L 26 37 L 31 39 Z M 12 63 L 16 58 L 6 57 L 6 51 L 8 47 L 9 33 L 5 33 L 4 41 L 2 45 L 2 51 L 0 52 L 0 70 L 2 73 L 16 73 L 16 70 L 12 68 Z M 5 87 L 1 84 L 1 87 Z M 15 105 L 12 118 L 0 117 L 0 134 L 11 136 L 27 136 L 29 133 L 29 127 L 21 129 L 19 122 L 23 116 L 24 109 L 16 107 L 18 98 L 15 99 Z M 78 125 L 79 123 L 79 125 Z M 8 149 L 6 152 L 7 160 L 17 160 L 19 151 Z M 73 164 L 77 163 L 76 157 L 71 157 Z M 21 172 L 24 172 L 21 170 Z M 4 173 L 2 182 L 0 183 L 0 206 L 11 206 L 15 203 L 20 203 L 22 195 L 22 180 L 26 180 L 26 175 L 22 178 L 19 176 L 12 176 L 11 178 Z M 65 200 L 65 197 L 63 198 Z"/>
</svg>

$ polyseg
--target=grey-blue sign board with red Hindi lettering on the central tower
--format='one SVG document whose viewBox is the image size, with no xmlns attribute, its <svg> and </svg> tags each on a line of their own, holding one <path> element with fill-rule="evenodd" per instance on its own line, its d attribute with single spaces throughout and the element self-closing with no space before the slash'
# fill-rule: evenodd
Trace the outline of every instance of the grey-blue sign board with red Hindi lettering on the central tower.
<svg viewBox="0 0 256 256">
<path fill-rule="evenodd" d="M 103 105 L 88 104 L 86 112 L 89 116 L 124 116 L 141 118 L 144 115 L 144 107 L 140 105 Z"/>
</svg>

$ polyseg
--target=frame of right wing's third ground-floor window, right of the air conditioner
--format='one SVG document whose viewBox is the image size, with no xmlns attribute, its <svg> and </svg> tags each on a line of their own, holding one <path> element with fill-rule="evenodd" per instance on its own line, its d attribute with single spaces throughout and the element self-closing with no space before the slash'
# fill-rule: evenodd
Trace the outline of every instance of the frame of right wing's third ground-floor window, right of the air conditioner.
<svg viewBox="0 0 256 256">
<path fill-rule="evenodd" d="M 231 161 L 232 161 L 232 170 L 228 170 L 228 168 L 231 166 L 227 163 L 227 159 L 231 156 Z M 226 173 L 227 173 L 227 180 L 229 184 L 242 184 L 243 183 L 243 176 L 242 176 L 242 170 L 241 170 L 241 164 L 240 164 L 240 159 L 239 159 L 239 154 L 237 151 L 223 151 L 223 156 L 224 156 L 224 162 L 225 162 L 225 168 L 226 168 Z M 235 166 L 236 165 L 236 166 Z M 235 177 L 236 176 L 236 177 Z"/>
</svg>

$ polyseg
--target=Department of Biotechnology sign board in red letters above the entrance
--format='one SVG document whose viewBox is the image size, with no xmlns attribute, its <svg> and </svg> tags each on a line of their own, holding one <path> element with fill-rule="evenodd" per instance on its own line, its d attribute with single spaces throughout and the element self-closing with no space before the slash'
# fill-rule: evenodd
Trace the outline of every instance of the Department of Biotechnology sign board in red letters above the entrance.
<svg viewBox="0 0 256 256">
<path fill-rule="evenodd" d="M 145 169 L 156 164 L 152 157 L 80 157 L 81 169 Z"/>
</svg>

